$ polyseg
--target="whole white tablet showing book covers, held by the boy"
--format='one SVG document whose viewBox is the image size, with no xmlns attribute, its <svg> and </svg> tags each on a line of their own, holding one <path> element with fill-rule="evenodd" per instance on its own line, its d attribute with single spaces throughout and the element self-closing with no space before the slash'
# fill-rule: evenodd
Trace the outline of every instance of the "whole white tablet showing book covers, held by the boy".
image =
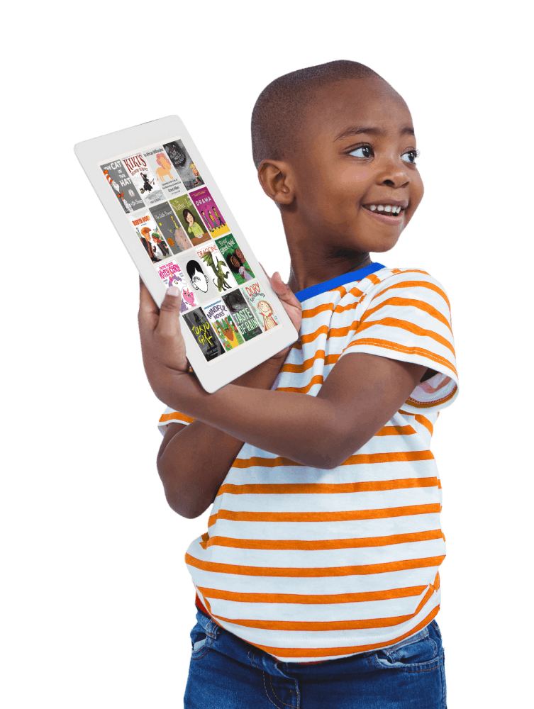
<svg viewBox="0 0 534 709">
<path fill-rule="evenodd" d="M 182 291 L 187 359 L 208 393 L 299 339 L 180 116 L 81 140 L 74 155 L 158 308 Z M 219 145 L 216 171 L 221 157 Z"/>
</svg>

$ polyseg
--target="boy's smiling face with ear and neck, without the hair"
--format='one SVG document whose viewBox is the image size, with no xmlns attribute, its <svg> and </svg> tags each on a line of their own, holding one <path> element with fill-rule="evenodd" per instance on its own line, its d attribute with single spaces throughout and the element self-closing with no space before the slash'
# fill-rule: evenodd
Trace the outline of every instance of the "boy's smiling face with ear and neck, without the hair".
<svg viewBox="0 0 534 709">
<path fill-rule="evenodd" d="M 338 138 L 352 126 L 384 134 Z M 413 119 L 389 84 L 338 82 L 318 91 L 296 158 L 260 165 L 260 184 L 280 205 L 296 278 L 292 286 L 322 283 L 372 262 L 371 253 L 395 247 L 425 190 L 411 152 L 417 150 L 416 138 L 401 135 L 403 128 L 414 129 Z M 406 206 L 396 224 L 384 223 L 364 207 L 392 200 Z"/>
</svg>

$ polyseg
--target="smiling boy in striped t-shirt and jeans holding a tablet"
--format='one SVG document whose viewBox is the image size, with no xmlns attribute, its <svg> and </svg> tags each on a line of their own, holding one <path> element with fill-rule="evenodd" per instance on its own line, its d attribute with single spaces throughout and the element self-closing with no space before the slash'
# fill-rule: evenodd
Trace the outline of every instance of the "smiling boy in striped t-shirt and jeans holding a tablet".
<svg viewBox="0 0 534 709">
<path fill-rule="evenodd" d="M 423 200 L 411 112 L 369 67 L 326 62 L 265 87 L 251 140 L 291 259 L 273 288 L 301 325 L 281 358 L 157 422 L 167 503 L 211 506 L 184 555 L 184 707 L 445 707 L 430 444 L 460 394 L 450 298 L 371 258 Z"/>
</svg>

